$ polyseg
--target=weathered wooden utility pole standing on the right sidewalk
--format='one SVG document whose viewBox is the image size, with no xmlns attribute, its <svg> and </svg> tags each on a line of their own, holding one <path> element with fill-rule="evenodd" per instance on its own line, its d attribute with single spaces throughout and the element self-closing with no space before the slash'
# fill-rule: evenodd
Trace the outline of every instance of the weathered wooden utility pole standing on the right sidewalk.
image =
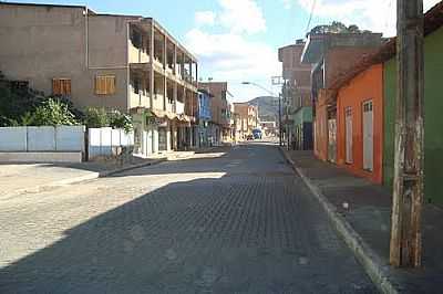
<svg viewBox="0 0 443 294">
<path fill-rule="evenodd" d="M 424 193 L 423 0 L 398 0 L 395 171 L 390 263 L 421 265 Z"/>
</svg>

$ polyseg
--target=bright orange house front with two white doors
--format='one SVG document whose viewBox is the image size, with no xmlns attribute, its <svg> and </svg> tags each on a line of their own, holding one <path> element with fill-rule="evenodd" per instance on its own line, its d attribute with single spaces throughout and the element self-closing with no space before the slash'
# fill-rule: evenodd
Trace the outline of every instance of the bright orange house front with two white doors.
<svg viewBox="0 0 443 294">
<path fill-rule="evenodd" d="M 337 164 L 377 183 L 383 165 L 383 64 L 367 66 L 337 91 Z"/>
</svg>

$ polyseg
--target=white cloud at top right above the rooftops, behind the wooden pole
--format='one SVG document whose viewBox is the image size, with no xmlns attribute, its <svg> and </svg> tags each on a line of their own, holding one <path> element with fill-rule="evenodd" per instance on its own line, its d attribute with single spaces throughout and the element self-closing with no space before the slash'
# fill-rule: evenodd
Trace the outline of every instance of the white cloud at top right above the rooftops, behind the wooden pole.
<svg viewBox="0 0 443 294">
<path fill-rule="evenodd" d="M 308 13 L 312 9 L 312 1 L 298 0 Z M 437 2 L 440 0 L 424 0 L 424 9 L 427 10 Z M 348 24 L 354 23 L 362 29 L 383 32 L 385 35 L 394 35 L 395 11 L 396 0 L 317 0 L 313 14 Z"/>
</svg>

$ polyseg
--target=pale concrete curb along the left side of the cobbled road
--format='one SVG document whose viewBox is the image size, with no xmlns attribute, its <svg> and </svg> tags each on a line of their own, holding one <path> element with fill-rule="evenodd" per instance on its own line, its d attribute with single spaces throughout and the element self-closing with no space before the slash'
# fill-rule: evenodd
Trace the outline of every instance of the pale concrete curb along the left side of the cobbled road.
<svg viewBox="0 0 443 294">
<path fill-rule="evenodd" d="M 100 171 L 100 172 L 95 171 L 95 172 L 91 172 L 89 175 L 70 178 L 70 179 L 64 179 L 64 180 L 59 180 L 59 181 L 53 181 L 53 182 L 48 182 L 48 183 L 43 183 L 43 185 L 35 186 L 32 188 L 18 189 L 18 190 L 0 198 L 0 201 L 6 200 L 11 197 L 14 197 L 14 196 L 23 195 L 23 193 L 38 193 L 38 192 L 41 192 L 41 191 L 44 191 L 44 190 L 48 190 L 51 188 L 79 183 L 82 181 L 94 180 L 97 178 L 105 178 L 105 177 L 110 177 L 112 175 L 120 174 L 123 171 L 127 171 L 127 170 L 132 170 L 132 169 L 136 169 L 136 168 L 141 168 L 141 167 L 154 166 L 154 165 L 157 165 L 157 164 L 166 161 L 166 160 L 167 160 L 167 158 L 161 158 L 161 159 L 152 160 L 150 162 L 143 162 L 143 164 L 138 164 L 138 165 L 133 165 L 133 166 L 128 166 L 128 167 L 117 168 L 117 169 L 113 169 L 113 170 L 105 170 L 105 171 Z"/>
</svg>

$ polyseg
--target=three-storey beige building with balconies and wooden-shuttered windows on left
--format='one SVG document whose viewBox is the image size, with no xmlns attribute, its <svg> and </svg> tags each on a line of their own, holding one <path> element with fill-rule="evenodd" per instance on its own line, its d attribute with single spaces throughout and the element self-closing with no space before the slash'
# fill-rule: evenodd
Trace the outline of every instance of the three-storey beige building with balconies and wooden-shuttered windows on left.
<svg viewBox="0 0 443 294">
<path fill-rule="evenodd" d="M 80 109 L 131 113 L 141 155 L 193 145 L 197 60 L 154 19 L 80 6 L 0 8 L 4 74 Z"/>
</svg>

